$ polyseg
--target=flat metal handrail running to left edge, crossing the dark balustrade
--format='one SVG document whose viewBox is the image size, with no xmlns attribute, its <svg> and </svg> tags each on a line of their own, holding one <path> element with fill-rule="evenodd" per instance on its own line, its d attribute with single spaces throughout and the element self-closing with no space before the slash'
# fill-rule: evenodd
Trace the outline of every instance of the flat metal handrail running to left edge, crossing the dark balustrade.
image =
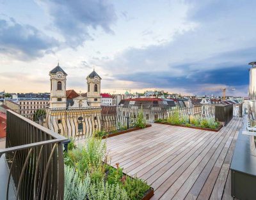
<svg viewBox="0 0 256 200">
<path fill-rule="evenodd" d="M 62 138 L 58 138 L 58 139 L 50 139 L 50 140 L 39 141 L 36 143 L 27 144 L 27 145 L 19 145 L 19 146 L 13 146 L 13 147 L 9 147 L 9 148 L 3 148 L 3 149 L 0 149 L 0 157 L 1 157 L 1 155 L 9 153 L 9 152 L 15 152 L 17 150 L 24 150 L 25 148 L 31 148 L 31 147 L 35 147 L 35 146 L 59 143 L 61 141 L 65 141 L 65 140 L 67 140 L 67 138 L 62 136 Z"/>
</svg>

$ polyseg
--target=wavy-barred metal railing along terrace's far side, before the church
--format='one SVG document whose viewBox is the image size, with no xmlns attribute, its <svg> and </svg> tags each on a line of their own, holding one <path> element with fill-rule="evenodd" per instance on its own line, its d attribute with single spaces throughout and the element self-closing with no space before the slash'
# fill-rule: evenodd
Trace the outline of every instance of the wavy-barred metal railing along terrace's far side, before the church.
<svg viewBox="0 0 256 200">
<path fill-rule="evenodd" d="M 215 106 L 198 106 L 180 108 L 168 105 L 129 105 L 101 106 L 85 108 L 57 108 L 40 110 L 16 110 L 17 113 L 43 125 L 47 129 L 65 137 L 84 139 L 97 131 L 113 131 L 132 126 L 136 123 L 138 114 L 143 112 L 147 124 L 154 123 L 159 118 L 167 118 L 173 113 L 201 117 L 214 117 Z"/>
</svg>

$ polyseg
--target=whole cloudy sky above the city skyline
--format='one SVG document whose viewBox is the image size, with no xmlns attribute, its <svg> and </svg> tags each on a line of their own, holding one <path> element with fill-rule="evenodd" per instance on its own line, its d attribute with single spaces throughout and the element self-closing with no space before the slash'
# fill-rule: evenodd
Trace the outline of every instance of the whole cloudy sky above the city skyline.
<svg viewBox="0 0 256 200">
<path fill-rule="evenodd" d="M 0 0 L 0 91 L 67 89 L 247 96 L 256 61 L 256 1 Z"/>
</svg>

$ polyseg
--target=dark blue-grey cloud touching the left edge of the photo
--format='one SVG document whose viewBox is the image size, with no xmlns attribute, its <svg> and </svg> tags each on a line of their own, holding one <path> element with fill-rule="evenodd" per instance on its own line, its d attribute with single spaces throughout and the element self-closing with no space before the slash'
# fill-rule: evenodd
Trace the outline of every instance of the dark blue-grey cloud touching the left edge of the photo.
<svg viewBox="0 0 256 200">
<path fill-rule="evenodd" d="M 0 53 L 21 60 L 35 59 L 52 53 L 58 41 L 31 25 L 22 25 L 13 18 L 0 19 Z"/>
</svg>

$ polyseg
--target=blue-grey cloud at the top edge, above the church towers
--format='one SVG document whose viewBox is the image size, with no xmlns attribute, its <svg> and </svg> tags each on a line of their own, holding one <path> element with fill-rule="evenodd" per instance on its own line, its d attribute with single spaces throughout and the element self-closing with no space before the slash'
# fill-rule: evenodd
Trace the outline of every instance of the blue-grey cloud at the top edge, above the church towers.
<svg viewBox="0 0 256 200">
<path fill-rule="evenodd" d="M 64 36 L 68 46 L 83 46 L 93 39 L 90 29 L 101 27 L 113 34 L 110 25 L 116 20 L 113 4 L 101 0 L 41 1 L 47 7 L 54 26 Z"/>
</svg>

